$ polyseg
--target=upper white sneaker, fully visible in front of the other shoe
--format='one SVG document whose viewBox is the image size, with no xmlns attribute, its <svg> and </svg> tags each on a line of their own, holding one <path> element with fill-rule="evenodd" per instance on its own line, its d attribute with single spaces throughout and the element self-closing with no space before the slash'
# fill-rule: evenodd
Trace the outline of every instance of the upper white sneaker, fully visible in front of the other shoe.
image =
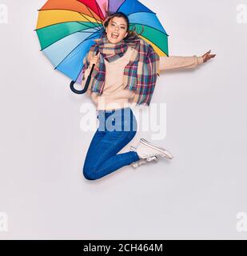
<svg viewBox="0 0 247 256">
<path fill-rule="evenodd" d="M 165 150 L 160 146 L 154 146 L 151 142 L 146 141 L 144 138 L 140 139 L 136 151 L 139 158 L 151 158 L 154 156 L 161 156 L 169 159 L 173 158 L 173 155 L 168 150 Z"/>
</svg>

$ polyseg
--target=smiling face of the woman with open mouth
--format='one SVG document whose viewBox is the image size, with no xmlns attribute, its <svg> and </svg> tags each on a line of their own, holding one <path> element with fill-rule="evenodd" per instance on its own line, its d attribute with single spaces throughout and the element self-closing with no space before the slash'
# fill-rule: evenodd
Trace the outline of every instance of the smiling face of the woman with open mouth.
<svg viewBox="0 0 247 256">
<path fill-rule="evenodd" d="M 122 17 L 112 18 L 106 27 L 106 37 L 111 43 L 121 42 L 127 34 L 127 23 Z"/>
</svg>

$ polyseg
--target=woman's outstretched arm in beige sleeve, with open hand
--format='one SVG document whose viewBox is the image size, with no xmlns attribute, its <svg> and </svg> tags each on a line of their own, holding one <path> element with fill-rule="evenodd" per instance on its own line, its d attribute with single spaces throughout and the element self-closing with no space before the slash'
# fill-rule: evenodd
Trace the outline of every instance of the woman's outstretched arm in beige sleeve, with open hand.
<svg viewBox="0 0 247 256">
<path fill-rule="evenodd" d="M 175 70 L 195 68 L 203 62 L 207 62 L 210 58 L 214 58 L 216 54 L 209 54 L 211 50 L 203 54 L 201 57 L 193 56 L 162 56 L 160 57 L 160 70 Z"/>
</svg>

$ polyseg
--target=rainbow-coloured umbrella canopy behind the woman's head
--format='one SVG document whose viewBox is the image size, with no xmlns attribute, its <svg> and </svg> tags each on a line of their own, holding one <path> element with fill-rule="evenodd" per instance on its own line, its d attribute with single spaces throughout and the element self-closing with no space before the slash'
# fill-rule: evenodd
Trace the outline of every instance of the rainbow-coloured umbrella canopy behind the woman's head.
<svg viewBox="0 0 247 256">
<path fill-rule="evenodd" d="M 157 15 L 137 0 L 49 0 L 38 10 L 36 33 L 55 70 L 82 83 L 82 66 L 94 40 L 104 33 L 106 10 L 121 11 L 159 56 L 168 55 L 168 34 Z"/>
</svg>

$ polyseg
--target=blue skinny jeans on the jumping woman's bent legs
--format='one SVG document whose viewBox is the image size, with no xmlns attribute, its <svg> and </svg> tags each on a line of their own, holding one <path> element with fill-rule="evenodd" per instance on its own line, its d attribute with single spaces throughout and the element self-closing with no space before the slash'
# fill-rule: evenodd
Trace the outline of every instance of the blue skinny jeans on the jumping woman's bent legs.
<svg viewBox="0 0 247 256">
<path fill-rule="evenodd" d="M 99 126 L 87 151 L 83 175 L 95 180 L 140 160 L 135 151 L 117 154 L 137 133 L 137 120 L 129 107 L 98 110 Z"/>
</svg>

